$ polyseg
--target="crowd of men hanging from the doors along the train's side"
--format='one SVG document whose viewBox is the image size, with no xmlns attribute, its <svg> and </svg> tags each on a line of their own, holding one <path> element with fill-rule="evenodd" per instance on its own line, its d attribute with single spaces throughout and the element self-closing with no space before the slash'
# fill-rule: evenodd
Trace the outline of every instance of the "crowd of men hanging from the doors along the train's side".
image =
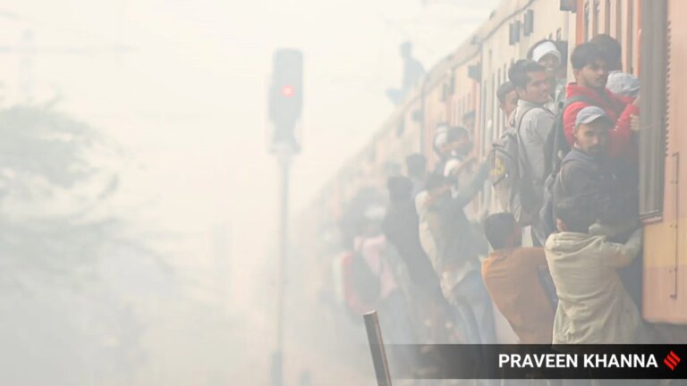
<svg viewBox="0 0 687 386">
<path fill-rule="evenodd" d="M 568 84 L 565 54 L 543 40 L 513 63 L 485 160 L 442 125 L 432 170 L 409 155 L 388 206 L 365 208 L 348 272 L 368 285 L 349 303 L 377 309 L 386 340 L 497 343 L 496 306 L 521 343 L 657 342 L 640 315 L 640 82 L 607 35 L 573 49 Z M 469 215 L 487 181 L 500 211 Z"/>
</svg>

